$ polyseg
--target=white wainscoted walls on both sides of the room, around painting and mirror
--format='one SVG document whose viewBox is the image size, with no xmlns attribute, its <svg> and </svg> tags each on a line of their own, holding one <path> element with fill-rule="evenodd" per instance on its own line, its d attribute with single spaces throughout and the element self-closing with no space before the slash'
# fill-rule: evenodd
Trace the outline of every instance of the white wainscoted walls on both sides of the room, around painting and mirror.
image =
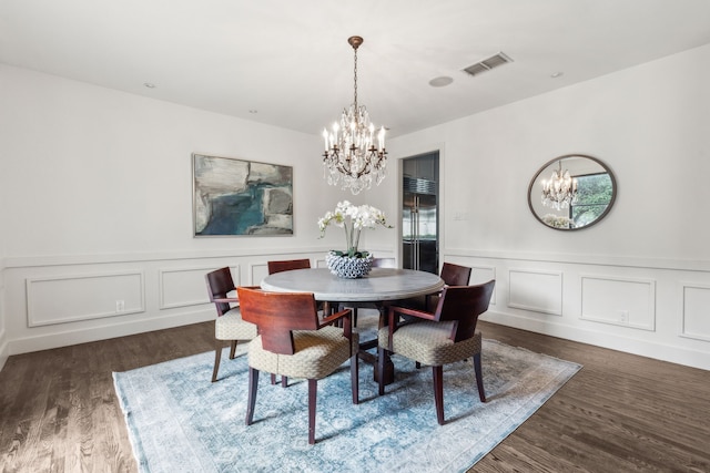
<svg viewBox="0 0 710 473">
<path fill-rule="evenodd" d="M 256 284 L 267 259 L 321 264 L 342 245 L 317 239 L 325 210 L 348 198 L 396 216 L 397 158 L 440 150 L 443 259 L 496 278 L 488 320 L 710 369 L 710 47 L 390 140 L 387 179 L 357 197 L 323 182 L 317 134 L 1 65 L 0 85 L 0 361 L 209 320 L 206 270 Z M 193 152 L 293 165 L 295 235 L 193 238 Z M 619 194 L 601 223 L 565 233 L 526 192 L 569 153 L 604 161 Z M 361 247 L 386 254 L 397 234 Z"/>
</svg>

